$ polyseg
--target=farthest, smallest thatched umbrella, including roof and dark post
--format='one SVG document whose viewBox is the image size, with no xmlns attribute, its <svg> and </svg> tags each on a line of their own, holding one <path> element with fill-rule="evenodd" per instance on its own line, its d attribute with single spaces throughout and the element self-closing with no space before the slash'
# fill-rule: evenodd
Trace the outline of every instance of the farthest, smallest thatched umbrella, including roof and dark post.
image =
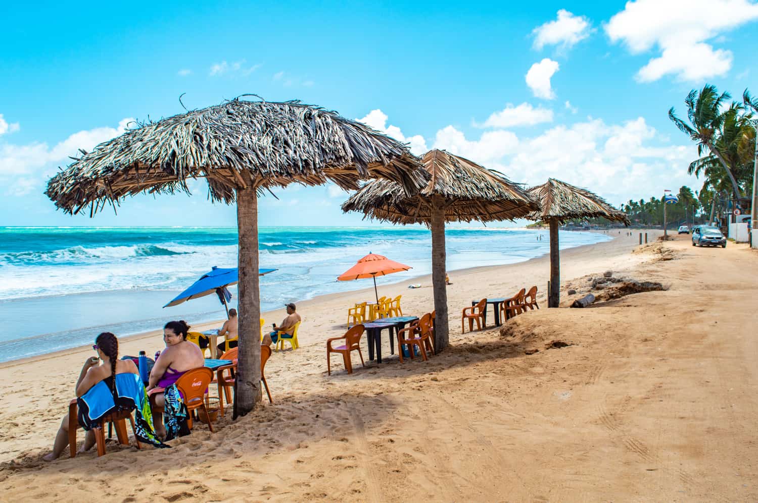
<svg viewBox="0 0 758 503">
<path fill-rule="evenodd" d="M 602 197 L 587 189 L 575 187 L 556 179 L 547 179 L 543 185 L 532 187 L 529 192 L 540 201 L 542 210 L 527 218 L 550 222 L 550 294 L 548 307 L 558 307 L 561 293 L 560 251 L 558 227 L 572 219 L 591 219 L 602 216 L 615 222 L 631 224 L 625 213 L 615 210 Z"/>
</svg>

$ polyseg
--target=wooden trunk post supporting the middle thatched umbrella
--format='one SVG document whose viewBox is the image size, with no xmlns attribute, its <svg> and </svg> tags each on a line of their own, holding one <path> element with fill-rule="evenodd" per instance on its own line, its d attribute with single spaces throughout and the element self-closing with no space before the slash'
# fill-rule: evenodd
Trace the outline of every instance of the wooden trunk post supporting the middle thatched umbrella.
<svg viewBox="0 0 758 503">
<path fill-rule="evenodd" d="M 441 197 L 433 196 L 431 200 L 431 282 L 434 287 L 434 348 L 437 351 L 444 349 L 449 341 L 444 212 Z"/>
</svg>

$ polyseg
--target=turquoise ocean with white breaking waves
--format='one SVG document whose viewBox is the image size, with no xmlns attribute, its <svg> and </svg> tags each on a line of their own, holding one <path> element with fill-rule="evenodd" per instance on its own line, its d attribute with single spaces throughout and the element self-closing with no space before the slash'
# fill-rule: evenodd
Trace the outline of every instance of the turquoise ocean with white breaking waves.
<svg viewBox="0 0 758 503">
<path fill-rule="evenodd" d="M 541 241 L 537 238 L 543 235 Z M 447 270 L 522 262 L 549 250 L 547 231 L 449 228 Z M 607 241 L 603 234 L 562 232 L 561 248 Z M 413 269 L 382 285 L 431 272 L 431 234 L 412 227 L 260 228 L 262 309 L 326 293 L 371 287 L 336 281 L 362 256 L 379 253 Z M 236 267 L 236 228 L 0 227 L 0 362 L 119 336 L 224 317 L 211 295 L 162 306 L 211 266 Z M 236 305 L 236 289 L 230 288 Z"/>
</svg>

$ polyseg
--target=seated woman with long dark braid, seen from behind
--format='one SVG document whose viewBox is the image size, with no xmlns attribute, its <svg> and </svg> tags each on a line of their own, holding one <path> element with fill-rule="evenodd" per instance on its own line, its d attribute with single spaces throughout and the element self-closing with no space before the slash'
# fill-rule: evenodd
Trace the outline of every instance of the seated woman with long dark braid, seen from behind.
<svg viewBox="0 0 758 503">
<path fill-rule="evenodd" d="M 80 398 L 89 391 L 90 388 L 95 386 L 100 381 L 104 380 L 111 390 L 115 393 L 115 381 L 114 375 L 116 374 L 137 374 L 136 365 L 132 360 L 119 360 L 118 359 L 118 340 L 114 334 L 110 332 L 103 332 L 97 336 L 95 344 L 92 346 L 95 349 L 97 356 L 90 356 L 84 362 L 82 371 L 79 374 L 77 385 L 74 388 L 77 393 L 77 398 Z M 98 361 L 102 361 L 101 365 L 98 365 Z M 144 392 L 143 392 L 144 393 Z M 80 427 L 82 425 L 80 424 Z M 84 445 L 79 452 L 86 452 L 92 449 L 95 445 L 95 433 L 92 430 L 87 431 L 84 436 Z M 68 415 L 64 415 L 63 421 L 61 421 L 61 427 L 58 428 L 58 433 L 55 435 L 55 442 L 53 442 L 52 452 L 45 455 L 42 459 L 45 461 L 53 461 L 58 459 L 64 449 L 68 446 Z"/>
</svg>

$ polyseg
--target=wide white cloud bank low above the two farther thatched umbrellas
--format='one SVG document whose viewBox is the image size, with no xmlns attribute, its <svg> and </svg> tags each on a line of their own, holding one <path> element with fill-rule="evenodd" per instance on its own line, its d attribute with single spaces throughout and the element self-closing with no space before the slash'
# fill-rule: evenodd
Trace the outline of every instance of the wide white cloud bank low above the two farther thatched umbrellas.
<svg viewBox="0 0 758 503">
<path fill-rule="evenodd" d="M 531 138 L 496 130 L 470 139 L 446 126 L 437 131 L 433 147 L 498 169 L 514 182 L 538 185 L 553 177 L 589 188 L 615 205 L 650 197 L 669 185 L 700 187 L 686 169 L 697 149 L 671 144 L 643 117 L 620 124 L 590 117 Z"/>
</svg>

